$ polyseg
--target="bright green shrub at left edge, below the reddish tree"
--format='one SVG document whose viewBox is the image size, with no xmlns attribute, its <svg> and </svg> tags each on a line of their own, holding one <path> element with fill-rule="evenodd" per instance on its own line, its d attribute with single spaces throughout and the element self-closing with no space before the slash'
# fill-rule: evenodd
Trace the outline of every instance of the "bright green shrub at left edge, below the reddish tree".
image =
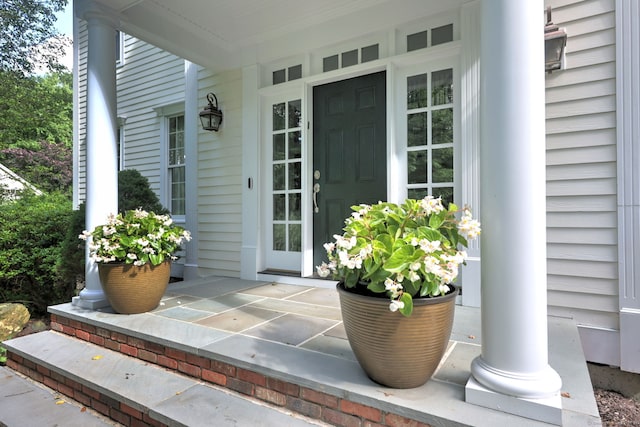
<svg viewBox="0 0 640 427">
<path fill-rule="evenodd" d="M 71 299 L 74 284 L 61 274 L 71 214 L 68 197 L 58 193 L 0 204 L 0 301 L 22 302 L 42 315 Z"/>
</svg>

